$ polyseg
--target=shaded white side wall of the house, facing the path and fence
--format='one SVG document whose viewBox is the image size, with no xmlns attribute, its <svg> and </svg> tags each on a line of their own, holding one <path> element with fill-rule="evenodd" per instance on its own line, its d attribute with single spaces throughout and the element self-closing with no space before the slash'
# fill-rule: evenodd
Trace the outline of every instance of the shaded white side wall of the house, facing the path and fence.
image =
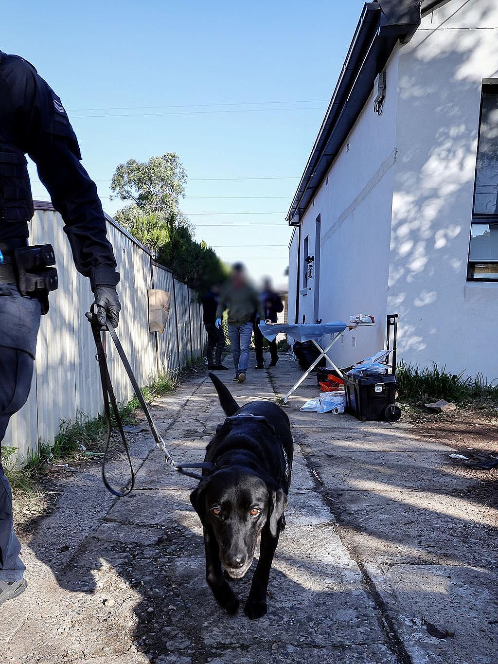
<svg viewBox="0 0 498 664">
<path fill-rule="evenodd" d="M 335 345 L 333 359 L 343 367 L 385 343 L 397 78 L 395 52 L 387 66 L 382 115 L 374 112 L 371 96 L 329 170 L 328 183 L 323 182 L 301 222 L 302 269 L 307 234 L 309 255 L 316 254 L 315 219 L 321 214 L 319 318 L 349 321 L 351 315 L 367 313 L 376 319 L 376 327 L 345 333 L 343 342 Z M 309 280 L 311 291 L 299 295 L 299 321 L 303 314 L 313 321 L 316 279 L 315 271 Z"/>
</svg>

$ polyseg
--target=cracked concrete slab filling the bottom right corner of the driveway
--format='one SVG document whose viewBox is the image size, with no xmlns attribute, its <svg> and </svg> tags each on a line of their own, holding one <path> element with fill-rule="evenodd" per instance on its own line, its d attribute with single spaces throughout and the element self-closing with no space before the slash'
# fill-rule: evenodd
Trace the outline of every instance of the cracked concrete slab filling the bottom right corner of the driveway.
<svg viewBox="0 0 498 664">
<path fill-rule="evenodd" d="M 367 564 L 413 664 L 495 664 L 497 574 L 469 566 Z M 428 633 L 422 618 L 446 639 Z"/>
</svg>

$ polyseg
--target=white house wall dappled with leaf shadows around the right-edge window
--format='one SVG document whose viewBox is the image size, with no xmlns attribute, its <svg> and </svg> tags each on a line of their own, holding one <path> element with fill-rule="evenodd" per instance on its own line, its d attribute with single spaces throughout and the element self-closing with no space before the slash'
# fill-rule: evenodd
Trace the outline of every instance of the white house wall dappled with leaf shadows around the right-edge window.
<svg viewBox="0 0 498 664">
<path fill-rule="evenodd" d="M 398 357 L 498 378 L 498 284 L 466 282 L 483 78 L 498 4 L 453 0 L 400 48 L 388 307 Z M 389 88 L 389 82 L 388 82 Z"/>
</svg>

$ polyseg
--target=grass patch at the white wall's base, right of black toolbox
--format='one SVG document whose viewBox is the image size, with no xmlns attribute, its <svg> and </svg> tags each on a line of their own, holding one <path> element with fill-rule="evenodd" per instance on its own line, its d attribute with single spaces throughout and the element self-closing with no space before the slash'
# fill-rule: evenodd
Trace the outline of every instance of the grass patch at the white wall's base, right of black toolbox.
<svg viewBox="0 0 498 664">
<path fill-rule="evenodd" d="M 428 401 L 446 399 L 455 404 L 498 404 L 498 385 L 487 383 L 483 374 L 475 378 L 465 376 L 462 371 L 453 374 L 440 369 L 434 363 L 432 369 L 419 369 L 413 365 L 400 363 L 396 368 L 400 401 L 408 404 L 423 404 Z"/>
</svg>

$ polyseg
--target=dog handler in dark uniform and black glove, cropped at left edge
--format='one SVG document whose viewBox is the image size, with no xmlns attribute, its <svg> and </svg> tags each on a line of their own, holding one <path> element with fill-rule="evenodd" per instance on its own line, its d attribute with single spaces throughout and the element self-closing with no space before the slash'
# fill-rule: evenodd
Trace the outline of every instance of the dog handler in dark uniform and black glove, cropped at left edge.
<svg viewBox="0 0 498 664">
<path fill-rule="evenodd" d="M 25 153 L 62 214 L 76 268 L 100 305 L 100 323 L 107 315 L 116 327 L 121 309 L 102 205 L 60 98 L 33 65 L 0 51 L 0 450 L 11 416 L 28 398 L 40 315 L 57 287 L 50 245 L 28 246 L 33 199 Z M 20 550 L 0 464 L 0 605 L 27 586 Z"/>
</svg>

